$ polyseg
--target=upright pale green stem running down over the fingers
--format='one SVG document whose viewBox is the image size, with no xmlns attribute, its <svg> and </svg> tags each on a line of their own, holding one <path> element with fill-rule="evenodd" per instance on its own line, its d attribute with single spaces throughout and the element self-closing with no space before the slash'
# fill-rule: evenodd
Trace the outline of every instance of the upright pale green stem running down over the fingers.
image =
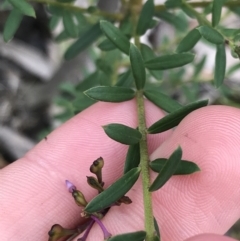
<svg viewBox="0 0 240 241">
<path fill-rule="evenodd" d="M 138 109 L 138 129 L 142 134 L 140 145 L 140 167 L 142 169 L 142 186 L 143 186 L 143 203 L 144 203 L 144 216 L 145 216 L 145 231 L 146 241 L 153 241 L 155 237 L 155 228 L 153 221 L 153 208 L 152 208 L 152 194 L 148 191 L 150 187 L 150 172 L 149 172 L 149 154 L 147 146 L 147 132 L 145 120 L 145 108 L 143 90 L 138 90 L 137 95 L 137 109 Z"/>
</svg>

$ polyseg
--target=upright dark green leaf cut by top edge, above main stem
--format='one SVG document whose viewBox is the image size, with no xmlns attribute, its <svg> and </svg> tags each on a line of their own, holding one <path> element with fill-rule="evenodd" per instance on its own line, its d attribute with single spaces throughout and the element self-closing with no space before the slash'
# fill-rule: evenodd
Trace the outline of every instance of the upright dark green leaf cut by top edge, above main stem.
<svg viewBox="0 0 240 241">
<path fill-rule="evenodd" d="M 143 5 L 142 11 L 139 16 L 136 33 L 137 35 L 143 35 L 150 27 L 151 20 L 154 15 L 154 2 L 153 0 L 147 0 Z"/>
</svg>

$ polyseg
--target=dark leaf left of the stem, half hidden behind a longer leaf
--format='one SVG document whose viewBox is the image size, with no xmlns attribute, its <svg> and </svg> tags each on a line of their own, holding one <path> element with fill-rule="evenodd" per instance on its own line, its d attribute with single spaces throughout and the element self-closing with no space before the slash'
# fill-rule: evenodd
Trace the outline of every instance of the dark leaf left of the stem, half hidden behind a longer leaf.
<svg viewBox="0 0 240 241">
<path fill-rule="evenodd" d="M 140 147 L 139 143 L 130 145 L 128 148 L 125 165 L 124 165 L 124 173 L 127 173 L 134 167 L 138 167 L 140 163 Z"/>
</svg>

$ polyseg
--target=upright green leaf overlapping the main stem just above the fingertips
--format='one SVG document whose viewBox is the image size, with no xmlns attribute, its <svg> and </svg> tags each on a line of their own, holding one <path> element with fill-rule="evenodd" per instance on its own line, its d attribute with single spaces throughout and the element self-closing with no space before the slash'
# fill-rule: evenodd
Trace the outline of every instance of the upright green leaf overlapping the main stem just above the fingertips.
<svg viewBox="0 0 240 241">
<path fill-rule="evenodd" d="M 142 55 L 134 44 L 130 45 L 129 56 L 136 87 L 138 90 L 141 90 L 144 88 L 145 85 L 146 71 Z"/>
</svg>

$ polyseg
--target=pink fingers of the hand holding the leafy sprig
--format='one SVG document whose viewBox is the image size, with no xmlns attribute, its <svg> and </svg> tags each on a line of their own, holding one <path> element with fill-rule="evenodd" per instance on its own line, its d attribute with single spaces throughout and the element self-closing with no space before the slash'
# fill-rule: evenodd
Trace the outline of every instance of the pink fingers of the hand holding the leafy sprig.
<svg viewBox="0 0 240 241">
<path fill-rule="evenodd" d="M 146 101 L 147 125 L 163 113 Z M 106 136 L 101 126 L 137 126 L 134 100 L 97 103 L 43 139 L 17 162 L 0 170 L 0 233 L 2 241 L 48 239 L 55 223 L 73 228 L 81 208 L 65 187 L 68 179 L 87 200 L 96 195 L 86 183 L 91 163 L 105 160 L 105 187 L 122 174 L 127 146 Z M 221 236 L 240 215 L 240 110 L 209 106 L 187 116 L 174 131 L 149 135 L 151 160 L 169 155 L 181 145 L 183 159 L 201 172 L 174 176 L 153 193 L 154 215 L 162 241 L 231 241 Z M 151 173 L 152 179 L 156 174 Z M 131 205 L 113 207 L 103 219 L 113 235 L 144 229 L 141 180 L 127 194 Z M 212 233 L 212 234 L 211 234 Z M 88 240 L 103 240 L 94 225 Z"/>
</svg>

